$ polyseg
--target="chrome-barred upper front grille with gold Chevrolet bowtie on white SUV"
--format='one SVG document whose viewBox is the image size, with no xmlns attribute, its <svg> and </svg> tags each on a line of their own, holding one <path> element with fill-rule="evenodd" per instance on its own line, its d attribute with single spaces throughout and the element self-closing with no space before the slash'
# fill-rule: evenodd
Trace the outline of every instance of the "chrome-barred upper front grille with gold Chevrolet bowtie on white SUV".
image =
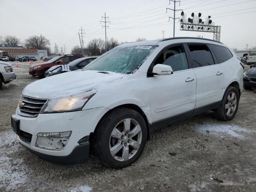
<svg viewBox="0 0 256 192">
<path fill-rule="evenodd" d="M 19 110 L 23 116 L 36 117 L 47 99 L 38 99 L 28 96 L 21 96 Z"/>
</svg>

